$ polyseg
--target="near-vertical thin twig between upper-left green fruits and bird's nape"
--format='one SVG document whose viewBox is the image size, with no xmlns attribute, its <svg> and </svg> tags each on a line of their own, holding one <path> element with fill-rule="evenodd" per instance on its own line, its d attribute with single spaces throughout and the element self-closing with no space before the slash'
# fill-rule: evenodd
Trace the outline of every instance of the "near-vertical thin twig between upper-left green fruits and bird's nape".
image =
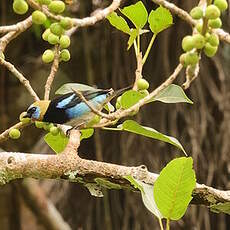
<svg viewBox="0 0 230 230">
<path fill-rule="evenodd" d="M 49 100 L 51 85 L 53 83 L 55 74 L 56 74 L 56 72 L 58 70 L 58 66 L 59 66 L 59 56 L 60 56 L 59 55 L 59 46 L 55 45 L 53 64 L 52 64 L 50 74 L 49 74 L 47 81 L 46 81 L 46 84 L 45 84 L 44 100 Z"/>
</svg>

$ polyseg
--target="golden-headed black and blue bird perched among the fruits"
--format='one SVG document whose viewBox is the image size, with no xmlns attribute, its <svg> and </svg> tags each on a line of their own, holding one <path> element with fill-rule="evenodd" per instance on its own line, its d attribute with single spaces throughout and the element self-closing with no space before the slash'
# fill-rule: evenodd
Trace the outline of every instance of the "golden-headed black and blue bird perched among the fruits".
<svg viewBox="0 0 230 230">
<path fill-rule="evenodd" d="M 114 97 L 122 94 L 130 86 L 114 91 L 110 89 L 96 89 L 79 91 L 95 110 L 101 111 Z M 82 98 L 73 90 L 53 100 L 39 100 L 29 106 L 24 118 L 32 121 L 42 121 L 54 124 L 67 124 L 80 127 L 89 122 L 95 113 L 82 101 Z"/>
</svg>

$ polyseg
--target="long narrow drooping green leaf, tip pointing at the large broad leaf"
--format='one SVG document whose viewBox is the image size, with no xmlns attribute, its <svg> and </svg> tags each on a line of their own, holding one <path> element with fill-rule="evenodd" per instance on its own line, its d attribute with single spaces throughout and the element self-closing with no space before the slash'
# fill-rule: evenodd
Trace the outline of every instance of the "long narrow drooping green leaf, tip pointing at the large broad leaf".
<svg viewBox="0 0 230 230">
<path fill-rule="evenodd" d="M 140 124 L 138 124 L 137 122 L 133 120 L 126 120 L 122 124 L 122 129 L 128 132 L 132 132 L 132 133 L 136 133 L 136 134 L 145 136 L 145 137 L 150 137 L 153 139 L 167 142 L 181 149 L 184 152 L 184 154 L 187 155 L 183 146 L 180 144 L 180 142 L 176 138 L 162 134 L 153 128 L 141 126 Z"/>
</svg>

